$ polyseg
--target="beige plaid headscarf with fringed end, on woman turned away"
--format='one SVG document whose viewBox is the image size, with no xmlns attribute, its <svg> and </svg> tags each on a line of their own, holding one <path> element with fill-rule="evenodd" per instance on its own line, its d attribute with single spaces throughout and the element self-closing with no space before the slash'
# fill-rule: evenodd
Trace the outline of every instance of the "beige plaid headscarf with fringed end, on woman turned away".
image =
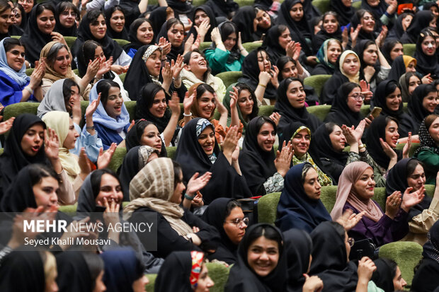
<svg viewBox="0 0 439 292">
<path fill-rule="evenodd" d="M 123 218 L 128 220 L 132 212 L 148 207 L 159 212 L 178 235 L 193 233 L 192 228 L 181 220 L 184 210 L 169 202 L 173 195 L 173 163 L 171 158 L 156 158 L 137 173 L 130 182 L 130 204 L 123 209 Z"/>
</svg>

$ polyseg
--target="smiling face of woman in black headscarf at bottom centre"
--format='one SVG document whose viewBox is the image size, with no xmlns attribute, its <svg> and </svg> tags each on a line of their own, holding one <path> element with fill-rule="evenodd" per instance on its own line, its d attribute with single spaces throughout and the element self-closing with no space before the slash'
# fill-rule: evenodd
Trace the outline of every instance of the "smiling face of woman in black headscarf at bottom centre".
<svg viewBox="0 0 439 292">
<path fill-rule="evenodd" d="M 275 240 L 261 236 L 249 246 L 247 262 L 258 276 L 268 276 L 278 265 L 278 261 L 279 245 Z"/>
</svg>

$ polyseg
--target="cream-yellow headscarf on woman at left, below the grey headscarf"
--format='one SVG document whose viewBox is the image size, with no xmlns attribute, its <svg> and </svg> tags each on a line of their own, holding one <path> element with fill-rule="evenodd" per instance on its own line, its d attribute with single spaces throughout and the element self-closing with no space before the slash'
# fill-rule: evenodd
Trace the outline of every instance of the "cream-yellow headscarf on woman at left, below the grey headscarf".
<svg viewBox="0 0 439 292">
<path fill-rule="evenodd" d="M 42 117 L 42 121 L 45 122 L 47 127 L 54 129 L 57 133 L 59 139 L 59 161 L 61 162 L 62 168 L 73 180 L 73 177 L 81 173 L 81 168 L 79 167 L 77 158 L 72 156 L 69 149 L 64 148 L 64 141 L 67 138 L 67 134 L 69 134 L 69 113 L 59 112 L 58 110 L 47 112 L 47 114 Z"/>
</svg>

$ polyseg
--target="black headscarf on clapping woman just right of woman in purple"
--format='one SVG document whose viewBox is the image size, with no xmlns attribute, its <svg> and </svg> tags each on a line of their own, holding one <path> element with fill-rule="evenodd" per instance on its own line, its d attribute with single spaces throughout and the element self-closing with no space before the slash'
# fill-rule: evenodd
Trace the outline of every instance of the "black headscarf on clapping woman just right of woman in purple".
<svg viewBox="0 0 439 292">
<path fill-rule="evenodd" d="M 416 158 L 404 158 L 397 162 L 394 167 L 389 170 L 386 178 L 386 198 L 389 197 L 393 192 L 399 191 L 404 194 L 409 184 L 407 183 L 407 164 L 410 160 L 417 160 Z M 416 204 L 411 207 L 409 211 L 409 218 L 413 218 L 418 214 L 421 214 L 423 210 L 428 209 L 431 204 L 431 197 L 424 197 L 421 203 Z"/>
</svg>

